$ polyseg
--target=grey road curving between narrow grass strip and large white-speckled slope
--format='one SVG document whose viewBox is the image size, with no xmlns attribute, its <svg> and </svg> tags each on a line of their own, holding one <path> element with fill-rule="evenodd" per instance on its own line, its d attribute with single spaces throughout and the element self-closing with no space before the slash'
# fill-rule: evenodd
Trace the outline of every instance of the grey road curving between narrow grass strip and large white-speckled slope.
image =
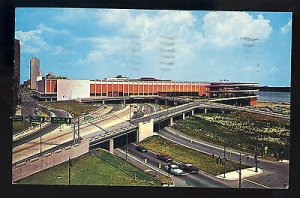
<svg viewBox="0 0 300 198">
<path fill-rule="evenodd" d="M 203 153 L 207 153 L 212 155 L 214 153 L 215 156 L 221 156 L 223 158 L 224 148 L 221 146 L 209 144 L 206 142 L 201 142 L 195 140 L 194 138 L 188 136 L 179 136 L 179 133 L 169 132 L 166 129 L 163 129 L 159 132 L 159 135 L 168 140 L 174 141 L 178 144 L 193 148 L 197 151 L 201 151 Z M 193 140 L 191 142 L 191 140 Z M 226 158 L 238 162 L 239 160 L 239 151 L 232 151 L 230 156 L 230 151 L 227 149 Z M 242 153 L 242 163 L 255 167 L 255 162 L 253 156 L 249 153 Z M 249 159 L 245 156 L 248 155 Z M 264 172 L 260 175 L 252 176 L 251 178 L 247 178 L 246 181 L 243 181 L 243 187 L 269 187 L 269 188 L 282 188 L 284 184 L 289 183 L 289 164 L 283 162 L 276 161 L 266 161 L 263 159 L 259 159 L 258 168 L 262 169 Z M 229 182 L 230 183 L 230 182 Z M 256 184 L 255 184 L 256 183 Z"/>
</svg>

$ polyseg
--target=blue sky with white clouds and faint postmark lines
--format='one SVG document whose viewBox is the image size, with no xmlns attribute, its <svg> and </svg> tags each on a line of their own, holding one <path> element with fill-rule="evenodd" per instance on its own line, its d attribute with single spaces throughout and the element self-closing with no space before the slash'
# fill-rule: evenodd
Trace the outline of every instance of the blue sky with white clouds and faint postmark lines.
<svg viewBox="0 0 300 198">
<path fill-rule="evenodd" d="M 17 8 L 15 21 L 21 83 L 32 57 L 69 79 L 291 83 L 290 12 Z"/>
</svg>

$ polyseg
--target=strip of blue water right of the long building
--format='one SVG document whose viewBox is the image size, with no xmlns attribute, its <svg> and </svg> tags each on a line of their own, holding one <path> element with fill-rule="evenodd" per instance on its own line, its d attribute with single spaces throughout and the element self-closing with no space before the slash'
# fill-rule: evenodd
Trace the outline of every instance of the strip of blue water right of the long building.
<svg viewBox="0 0 300 198">
<path fill-rule="evenodd" d="M 259 91 L 258 100 L 271 102 L 290 102 L 291 92 Z"/>
</svg>

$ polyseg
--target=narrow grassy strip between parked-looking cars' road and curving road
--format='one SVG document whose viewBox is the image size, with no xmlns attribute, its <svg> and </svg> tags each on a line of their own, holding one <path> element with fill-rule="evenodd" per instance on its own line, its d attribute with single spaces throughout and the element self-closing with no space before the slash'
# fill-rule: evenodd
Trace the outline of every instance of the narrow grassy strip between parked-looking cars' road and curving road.
<svg viewBox="0 0 300 198">
<path fill-rule="evenodd" d="M 176 161 L 192 163 L 200 170 L 208 172 L 210 174 L 219 175 L 224 173 L 223 164 L 216 163 L 217 156 L 213 158 L 211 155 L 186 148 L 162 137 L 152 136 L 145 139 L 140 144 L 147 149 L 153 150 L 154 152 L 166 153 Z M 239 169 L 239 164 L 233 161 L 228 160 L 226 164 L 227 172 Z M 242 165 L 242 168 L 247 167 L 249 166 Z"/>
</svg>

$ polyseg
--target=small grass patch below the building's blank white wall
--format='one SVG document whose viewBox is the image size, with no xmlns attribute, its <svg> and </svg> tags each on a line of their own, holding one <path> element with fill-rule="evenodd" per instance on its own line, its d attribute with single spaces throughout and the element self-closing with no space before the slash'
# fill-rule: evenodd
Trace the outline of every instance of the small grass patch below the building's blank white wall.
<svg viewBox="0 0 300 198">
<path fill-rule="evenodd" d="M 78 117 L 82 113 L 88 113 L 98 106 L 94 106 L 93 104 L 84 104 L 77 101 L 53 101 L 53 102 L 42 102 L 41 105 L 62 109 L 72 114 L 73 117 Z"/>
</svg>

